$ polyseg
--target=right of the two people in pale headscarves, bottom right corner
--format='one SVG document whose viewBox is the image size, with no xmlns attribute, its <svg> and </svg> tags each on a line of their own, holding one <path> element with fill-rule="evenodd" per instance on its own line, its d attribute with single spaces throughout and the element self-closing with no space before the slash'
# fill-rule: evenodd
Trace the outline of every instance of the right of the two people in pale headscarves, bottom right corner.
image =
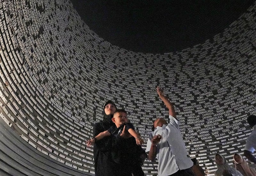
<svg viewBox="0 0 256 176">
<path fill-rule="evenodd" d="M 235 153 L 234 162 L 236 170 L 241 172 L 244 176 L 256 176 L 256 170 L 253 167 L 249 167 L 247 162 L 241 155 Z"/>
</svg>

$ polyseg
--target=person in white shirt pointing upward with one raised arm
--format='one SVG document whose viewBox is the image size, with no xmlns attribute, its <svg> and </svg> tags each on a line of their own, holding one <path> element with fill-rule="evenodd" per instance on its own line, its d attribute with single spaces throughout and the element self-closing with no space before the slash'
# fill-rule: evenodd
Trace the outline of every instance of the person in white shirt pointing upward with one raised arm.
<svg viewBox="0 0 256 176">
<path fill-rule="evenodd" d="M 169 124 L 163 118 L 154 122 L 155 130 L 150 133 L 147 149 L 150 160 L 158 160 L 158 176 L 194 176 L 190 169 L 193 162 L 188 157 L 179 120 L 172 103 L 164 96 L 164 90 L 157 87 L 157 93 L 169 110 Z"/>
</svg>

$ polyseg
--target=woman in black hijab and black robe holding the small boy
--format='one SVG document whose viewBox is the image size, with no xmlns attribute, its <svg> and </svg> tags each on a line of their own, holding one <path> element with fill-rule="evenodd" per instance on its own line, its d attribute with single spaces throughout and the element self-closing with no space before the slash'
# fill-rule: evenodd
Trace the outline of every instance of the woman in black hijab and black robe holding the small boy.
<svg viewBox="0 0 256 176">
<path fill-rule="evenodd" d="M 99 123 L 96 123 L 93 127 L 93 137 L 97 136 L 103 131 L 108 130 L 110 126 L 115 125 L 112 122 L 113 114 L 115 111 L 115 103 L 111 100 L 108 100 L 104 105 L 103 120 Z M 99 141 L 95 141 L 93 146 L 95 176 L 114 176 L 113 173 L 116 172 L 116 165 L 111 155 L 112 142 L 112 136 L 108 136 Z"/>
</svg>

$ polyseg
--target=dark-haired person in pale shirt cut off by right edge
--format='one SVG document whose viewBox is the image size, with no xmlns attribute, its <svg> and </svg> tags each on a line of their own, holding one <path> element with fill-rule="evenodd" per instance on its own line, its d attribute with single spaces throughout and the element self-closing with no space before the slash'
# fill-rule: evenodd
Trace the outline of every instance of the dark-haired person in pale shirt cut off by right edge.
<svg viewBox="0 0 256 176">
<path fill-rule="evenodd" d="M 246 145 L 244 147 L 244 156 L 256 164 L 256 158 L 252 155 L 252 153 L 256 150 L 256 116 L 250 115 L 247 118 L 247 122 L 253 130 L 246 140 Z"/>
</svg>

